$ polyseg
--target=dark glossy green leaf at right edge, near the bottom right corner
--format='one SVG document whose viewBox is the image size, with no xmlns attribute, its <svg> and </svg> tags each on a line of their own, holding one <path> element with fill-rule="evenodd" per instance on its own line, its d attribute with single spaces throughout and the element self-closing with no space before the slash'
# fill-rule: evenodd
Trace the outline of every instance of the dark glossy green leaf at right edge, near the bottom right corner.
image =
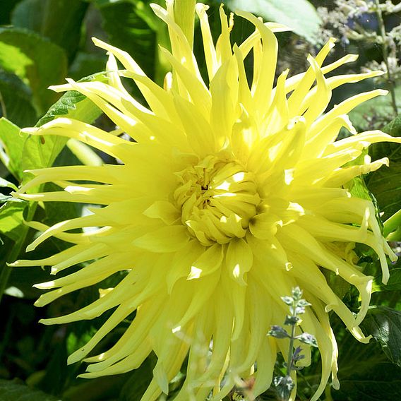
<svg viewBox="0 0 401 401">
<path fill-rule="evenodd" d="M 380 343 L 388 359 L 401 367 L 401 311 L 371 306 L 361 326 Z"/>
</svg>

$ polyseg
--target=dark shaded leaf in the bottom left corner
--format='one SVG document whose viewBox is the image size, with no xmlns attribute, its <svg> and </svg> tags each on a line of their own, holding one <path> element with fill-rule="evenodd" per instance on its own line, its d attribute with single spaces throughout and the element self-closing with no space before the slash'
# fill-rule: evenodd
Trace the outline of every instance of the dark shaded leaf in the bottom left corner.
<svg viewBox="0 0 401 401">
<path fill-rule="evenodd" d="M 0 379 L 0 400 L 1 401 L 60 401 L 59 398 L 34 390 L 23 384 L 18 379 Z"/>
</svg>

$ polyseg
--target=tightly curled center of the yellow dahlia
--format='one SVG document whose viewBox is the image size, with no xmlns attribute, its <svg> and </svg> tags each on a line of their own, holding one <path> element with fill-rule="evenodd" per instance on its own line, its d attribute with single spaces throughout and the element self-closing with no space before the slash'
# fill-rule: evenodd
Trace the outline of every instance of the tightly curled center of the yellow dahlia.
<svg viewBox="0 0 401 401">
<path fill-rule="evenodd" d="M 252 173 L 211 155 L 177 175 L 181 184 L 174 198 L 193 237 L 210 246 L 245 236 L 261 203 Z"/>
</svg>

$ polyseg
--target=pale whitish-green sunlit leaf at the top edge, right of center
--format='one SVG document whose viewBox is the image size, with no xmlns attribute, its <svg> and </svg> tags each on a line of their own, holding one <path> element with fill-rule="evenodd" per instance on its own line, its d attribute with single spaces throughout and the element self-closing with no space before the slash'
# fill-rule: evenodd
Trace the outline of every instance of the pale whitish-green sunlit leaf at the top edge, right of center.
<svg viewBox="0 0 401 401">
<path fill-rule="evenodd" d="M 232 11 L 249 11 L 264 20 L 282 23 L 295 33 L 316 43 L 321 18 L 316 9 L 306 0 L 229 0 Z"/>
</svg>

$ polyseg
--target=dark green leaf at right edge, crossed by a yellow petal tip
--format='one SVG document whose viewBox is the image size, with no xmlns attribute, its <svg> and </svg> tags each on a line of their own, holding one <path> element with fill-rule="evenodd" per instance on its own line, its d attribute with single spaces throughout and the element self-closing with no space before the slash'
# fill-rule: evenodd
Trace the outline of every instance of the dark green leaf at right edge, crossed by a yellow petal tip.
<svg viewBox="0 0 401 401">
<path fill-rule="evenodd" d="M 401 136 L 401 116 L 390 122 L 382 131 L 391 136 Z M 381 167 L 376 172 L 371 172 L 366 178 L 366 185 L 375 196 L 383 219 L 401 209 L 401 145 L 397 143 L 375 143 L 369 148 L 372 160 L 388 157 L 390 167 Z"/>
</svg>

